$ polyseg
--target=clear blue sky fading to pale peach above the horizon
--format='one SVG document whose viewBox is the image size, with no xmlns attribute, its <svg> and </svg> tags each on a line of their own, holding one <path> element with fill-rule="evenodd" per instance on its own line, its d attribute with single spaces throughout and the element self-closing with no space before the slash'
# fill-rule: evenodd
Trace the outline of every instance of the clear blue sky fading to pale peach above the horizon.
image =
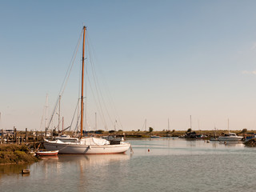
<svg viewBox="0 0 256 192">
<path fill-rule="evenodd" d="M 187 130 L 191 115 L 192 130 L 227 130 L 228 119 L 230 130 L 256 130 L 255 6 L 250 0 L 2 0 L 0 129 L 44 130 L 46 94 L 50 118 L 86 25 L 102 98 L 111 103 L 106 128 L 92 94 L 86 96 L 91 129 L 97 122 L 102 130 L 145 130 L 146 119 L 146 130 Z M 78 102 L 79 73 L 72 70 L 62 96 L 65 127 Z"/>
</svg>

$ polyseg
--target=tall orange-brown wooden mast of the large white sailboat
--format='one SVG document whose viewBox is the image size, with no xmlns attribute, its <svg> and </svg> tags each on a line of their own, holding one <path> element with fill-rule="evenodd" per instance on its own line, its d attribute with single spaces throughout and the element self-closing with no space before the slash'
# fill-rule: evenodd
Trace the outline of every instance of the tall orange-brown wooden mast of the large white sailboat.
<svg viewBox="0 0 256 192">
<path fill-rule="evenodd" d="M 84 66 L 85 66 L 85 40 L 86 38 L 86 26 L 83 26 L 83 43 L 82 43 L 82 89 L 81 89 L 81 135 L 82 138 L 82 118 L 83 118 L 83 75 L 84 75 Z"/>
</svg>

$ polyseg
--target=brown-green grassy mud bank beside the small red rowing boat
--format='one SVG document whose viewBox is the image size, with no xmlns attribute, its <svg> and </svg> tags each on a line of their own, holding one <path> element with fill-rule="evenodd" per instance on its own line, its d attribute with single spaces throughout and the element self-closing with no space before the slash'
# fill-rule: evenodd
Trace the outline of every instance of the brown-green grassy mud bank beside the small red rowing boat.
<svg viewBox="0 0 256 192">
<path fill-rule="evenodd" d="M 38 162 L 38 158 L 30 154 L 30 150 L 25 145 L 1 144 L 0 164 L 30 163 Z"/>
</svg>

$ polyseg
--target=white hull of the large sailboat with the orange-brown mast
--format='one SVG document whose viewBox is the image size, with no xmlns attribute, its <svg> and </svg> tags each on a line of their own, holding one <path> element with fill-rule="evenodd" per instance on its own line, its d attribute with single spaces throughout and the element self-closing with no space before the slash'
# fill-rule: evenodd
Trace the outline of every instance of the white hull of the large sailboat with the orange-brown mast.
<svg viewBox="0 0 256 192">
<path fill-rule="evenodd" d="M 58 154 L 122 154 L 130 148 L 130 143 L 118 145 L 82 145 L 72 142 L 56 142 L 45 140 L 46 150 L 58 150 Z"/>
</svg>

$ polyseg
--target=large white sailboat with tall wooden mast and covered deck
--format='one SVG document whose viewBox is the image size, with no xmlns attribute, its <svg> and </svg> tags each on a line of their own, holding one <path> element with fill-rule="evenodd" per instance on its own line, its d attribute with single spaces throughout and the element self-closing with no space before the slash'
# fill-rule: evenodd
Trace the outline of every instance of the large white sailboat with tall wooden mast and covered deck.
<svg viewBox="0 0 256 192">
<path fill-rule="evenodd" d="M 81 131 L 76 142 L 62 142 L 60 140 L 44 140 L 46 150 L 58 150 L 58 154 L 121 154 L 130 148 L 129 142 L 120 142 L 111 145 L 104 138 L 82 138 L 83 127 L 83 82 L 84 82 L 84 60 L 85 60 L 85 37 L 86 26 L 83 26 L 83 46 L 82 46 L 82 89 L 81 89 Z"/>
</svg>

